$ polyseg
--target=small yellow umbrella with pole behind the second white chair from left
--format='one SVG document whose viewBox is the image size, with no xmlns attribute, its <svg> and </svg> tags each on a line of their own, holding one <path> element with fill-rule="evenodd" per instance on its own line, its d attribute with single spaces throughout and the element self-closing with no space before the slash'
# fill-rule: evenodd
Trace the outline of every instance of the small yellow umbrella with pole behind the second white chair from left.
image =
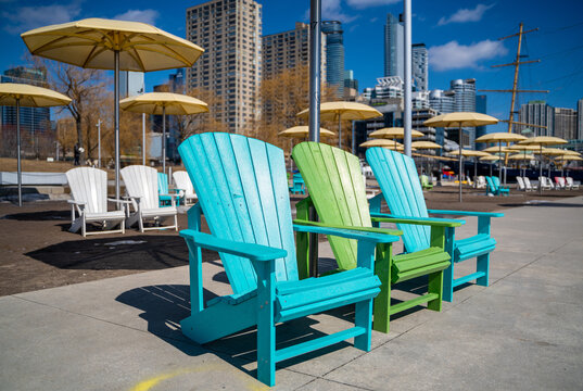
<svg viewBox="0 0 583 391">
<path fill-rule="evenodd" d="M 208 105 L 181 93 L 149 92 L 119 101 L 119 108 L 134 113 L 162 115 L 162 172 L 166 173 L 166 115 L 207 113 Z"/>
</svg>

